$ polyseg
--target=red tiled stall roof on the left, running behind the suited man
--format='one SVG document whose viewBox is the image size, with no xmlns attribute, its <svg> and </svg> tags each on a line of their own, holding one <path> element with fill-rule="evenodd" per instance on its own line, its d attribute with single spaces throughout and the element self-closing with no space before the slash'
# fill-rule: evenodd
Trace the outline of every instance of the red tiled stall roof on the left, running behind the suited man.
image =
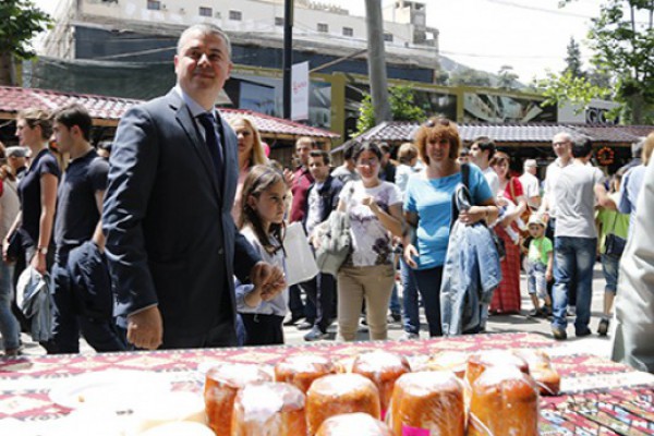
<svg viewBox="0 0 654 436">
<path fill-rule="evenodd" d="M 53 110 L 78 102 L 84 106 L 97 125 L 116 126 L 122 114 L 133 105 L 143 102 L 131 98 L 106 97 L 89 94 L 60 93 L 56 90 L 0 86 L 0 119 L 13 119 L 27 108 Z M 340 135 L 298 122 L 266 116 L 252 110 L 220 108 L 220 113 L 229 121 L 237 117 L 253 120 L 259 132 L 268 136 L 312 136 L 337 138 Z"/>
</svg>

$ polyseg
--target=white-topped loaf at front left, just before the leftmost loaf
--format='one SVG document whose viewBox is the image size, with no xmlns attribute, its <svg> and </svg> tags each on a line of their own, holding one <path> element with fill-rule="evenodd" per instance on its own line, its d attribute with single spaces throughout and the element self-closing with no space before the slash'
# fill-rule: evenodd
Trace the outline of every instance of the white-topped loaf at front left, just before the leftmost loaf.
<svg viewBox="0 0 654 436">
<path fill-rule="evenodd" d="M 232 436 L 306 434 L 304 392 L 288 383 L 245 386 L 237 395 Z"/>
</svg>

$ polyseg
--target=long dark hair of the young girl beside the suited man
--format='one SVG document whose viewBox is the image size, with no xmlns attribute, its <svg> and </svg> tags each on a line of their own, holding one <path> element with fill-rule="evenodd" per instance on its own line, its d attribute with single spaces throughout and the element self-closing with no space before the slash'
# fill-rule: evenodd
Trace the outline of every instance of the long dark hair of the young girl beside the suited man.
<svg viewBox="0 0 654 436">
<path fill-rule="evenodd" d="M 286 186 L 283 174 L 280 171 L 269 166 L 257 165 L 250 170 L 250 173 L 245 178 L 245 181 L 243 182 L 243 192 L 241 194 L 241 216 L 239 217 L 238 223 L 239 229 L 242 229 L 245 227 L 245 225 L 251 225 L 256 239 L 259 241 L 264 250 L 266 250 L 266 252 L 270 255 L 277 253 L 279 250 L 283 250 L 283 245 L 281 243 L 286 232 L 286 225 L 283 221 L 281 223 L 270 223 L 269 234 L 275 237 L 275 239 L 279 241 L 279 244 L 275 245 L 270 243 L 270 238 L 268 234 L 266 234 L 259 216 L 257 215 L 256 210 L 250 206 L 247 198 L 250 198 L 251 195 L 258 198 L 262 193 L 279 182 L 283 183 Z"/>
</svg>

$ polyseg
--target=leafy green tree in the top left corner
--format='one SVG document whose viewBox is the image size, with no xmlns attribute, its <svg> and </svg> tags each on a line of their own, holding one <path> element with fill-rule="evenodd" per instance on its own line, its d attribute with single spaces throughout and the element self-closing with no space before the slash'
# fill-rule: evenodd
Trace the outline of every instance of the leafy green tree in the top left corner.
<svg viewBox="0 0 654 436">
<path fill-rule="evenodd" d="M 15 85 L 15 60 L 31 59 L 36 53 L 32 39 L 49 28 L 50 16 L 31 0 L 0 2 L 0 85 Z"/>
</svg>

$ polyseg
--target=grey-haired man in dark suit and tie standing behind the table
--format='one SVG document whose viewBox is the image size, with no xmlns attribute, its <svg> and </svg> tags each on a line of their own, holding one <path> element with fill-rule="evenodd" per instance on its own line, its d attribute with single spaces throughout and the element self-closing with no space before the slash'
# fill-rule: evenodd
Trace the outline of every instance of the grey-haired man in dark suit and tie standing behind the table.
<svg viewBox="0 0 654 436">
<path fill-rule="evenodd" d="M 286 287 L 230 214 L 237 137 L 215 101 L 231 68 L 222 31 L 187 28 L 177 86 L 131 108 L 118 128 L 102 223 L 119 323 L 138 348 L 235 346 L 233 276 L 267 298 Z"/>
</svg>

